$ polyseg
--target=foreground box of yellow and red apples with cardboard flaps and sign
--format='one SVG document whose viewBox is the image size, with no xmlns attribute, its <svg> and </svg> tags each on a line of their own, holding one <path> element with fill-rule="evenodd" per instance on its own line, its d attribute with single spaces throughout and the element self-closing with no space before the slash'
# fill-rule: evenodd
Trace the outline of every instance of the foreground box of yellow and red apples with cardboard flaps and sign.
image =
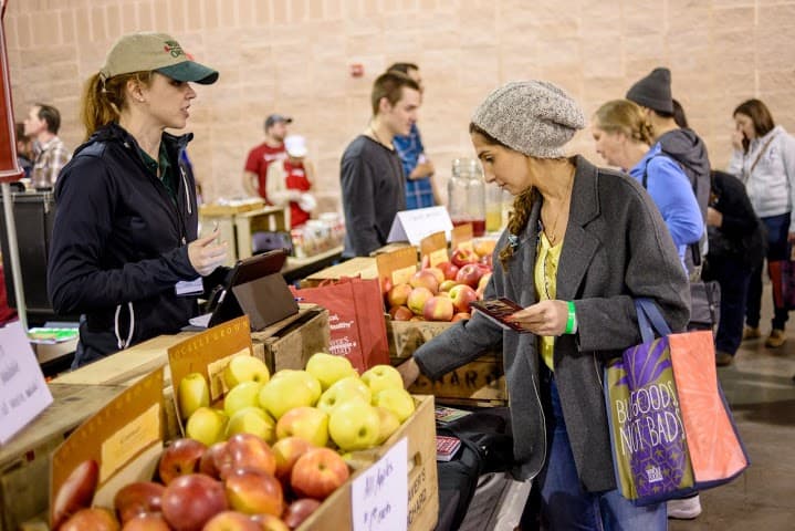
<svg viewBox="0 0 795 531">
<path fill-rule="evenodd" d="M 432 397 L 408 395 L 388 365 L 359 378 L 346 358 L 323 353 L 305 371 L 271 376 L 251 355 L 251 339 L 242 333 L 248 320 L 237 321 L 169 348 L 185 438 L 163 448 L 156 404 L 163 406 L 164 383 L 157 369 L 55 451 L 53 528 L 118 529 L 113 522 L 121 518 L 142 525 L 129 529 L 352 529 L 355 520 L 388 517 L 378 500 L 363 508 L 354 492 L 391 476 L 406 489 L 400 527 L 432 529 Z M 375 395 L 374 405 L 365 395 Z M 379 467 L 395 455 L 402 457 Z M 400 497 L 394 489 L 385 494 L 394 510 Z M 396 527 L 385 525 L 373 529 Z"/>
</svg>

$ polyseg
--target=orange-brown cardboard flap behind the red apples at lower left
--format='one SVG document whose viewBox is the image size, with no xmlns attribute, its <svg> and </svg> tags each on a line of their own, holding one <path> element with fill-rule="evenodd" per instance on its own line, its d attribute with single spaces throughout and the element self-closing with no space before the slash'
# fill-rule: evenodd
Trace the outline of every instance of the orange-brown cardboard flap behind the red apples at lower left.
<svg viewBox="0 0 795 531">
<path fill-rule="evenodd" d="M 159 456 L 163 451 L 163 416 L 160 367 L 123 391 L 57 447 L 52 455 L 50 500 L 55 500 L 79 465 L 94 460 L 100 469 L 94 503 L 113 507 L 112 497 L 117 489 L 108 483 L 116 473 L 142 455 Z M 154 466 L 142 468 L 136 479 L 149 479 L 153 472 Z"/>
</svg>

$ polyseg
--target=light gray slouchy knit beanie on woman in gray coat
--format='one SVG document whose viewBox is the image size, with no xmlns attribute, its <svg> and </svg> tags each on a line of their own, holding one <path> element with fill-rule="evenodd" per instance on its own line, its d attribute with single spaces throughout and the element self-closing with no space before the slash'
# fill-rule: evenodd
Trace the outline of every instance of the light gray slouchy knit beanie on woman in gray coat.
<svg viewBox="0 0 795 531">
<path fill-rule="evenodd" d="M 563 146 L 585 115 L 568 94 L 546 81 L 516 81 L 493 91 L 472 123 L 511 149 L 538 158 L 564 155 Z"/>
</svg>

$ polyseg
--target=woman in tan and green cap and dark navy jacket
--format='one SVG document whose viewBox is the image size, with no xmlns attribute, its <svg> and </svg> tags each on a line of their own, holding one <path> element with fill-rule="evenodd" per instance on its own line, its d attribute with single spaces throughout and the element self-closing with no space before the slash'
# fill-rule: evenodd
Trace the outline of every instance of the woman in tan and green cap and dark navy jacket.
<svg viewBox="0 0 795 531">
<path fill-rule="evenodd" d="M 186 126 L 190 82 L 217 79 L 170 35 L 142 32 L 86 84 L 88 138 L 56 181 L 48 263 L 53 309 L 81 314 L 73 367 L 178 332 L 226 274 L 219 233 L 197 238 L 196 183 L 180 160 L 192 135 L 165 133 Z"/>
</svg>

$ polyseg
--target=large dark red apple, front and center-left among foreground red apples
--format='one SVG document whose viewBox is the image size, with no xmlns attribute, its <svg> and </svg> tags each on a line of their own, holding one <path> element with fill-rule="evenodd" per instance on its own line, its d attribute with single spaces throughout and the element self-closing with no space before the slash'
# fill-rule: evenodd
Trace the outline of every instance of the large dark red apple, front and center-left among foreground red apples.
<svg viewBox="0 0 795 531">
<path fill-rule="evenodd" d="M 161 504 L 163 517 L 176 531 L 200 531 L 229 508 L 223 485 L 203 473 L 188 473 L 168 483 Z"/>
</svg>

